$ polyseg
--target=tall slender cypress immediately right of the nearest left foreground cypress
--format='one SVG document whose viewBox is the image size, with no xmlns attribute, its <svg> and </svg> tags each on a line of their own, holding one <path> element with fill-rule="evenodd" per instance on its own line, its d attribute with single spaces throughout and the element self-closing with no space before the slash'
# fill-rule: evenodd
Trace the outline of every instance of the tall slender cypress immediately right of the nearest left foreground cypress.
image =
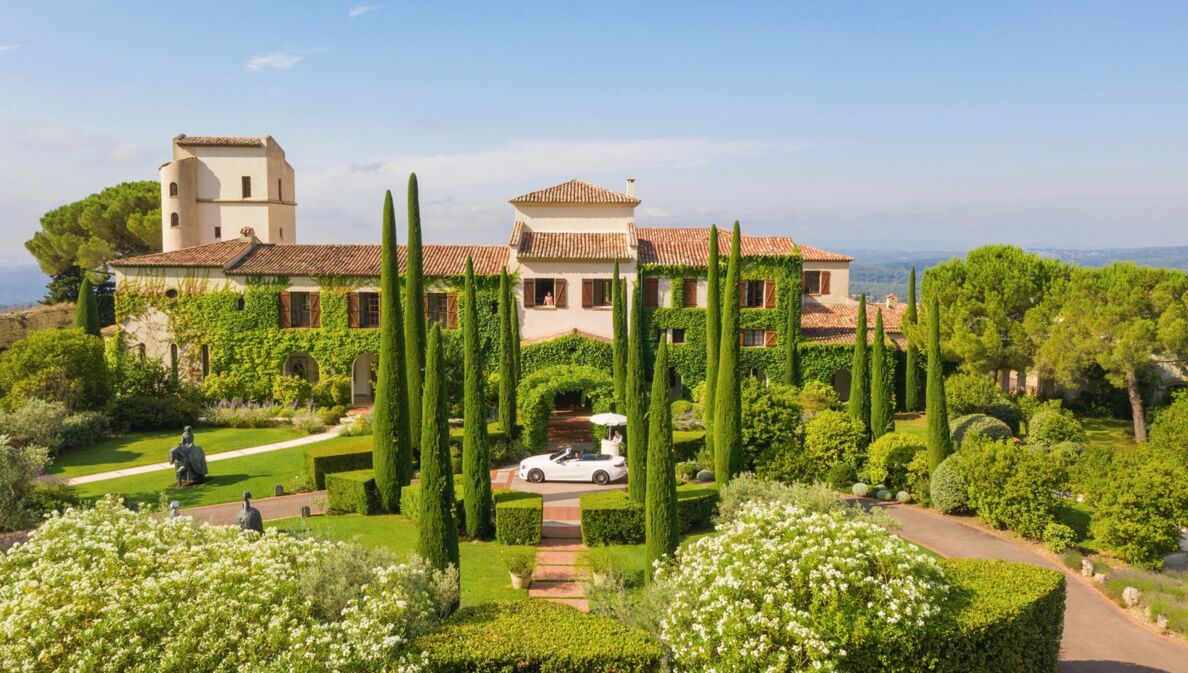
<svg viewBox="0 0 1188 673">
<path fill-rule="evenodd" d="M 474 289 L 474 263 L 466 258 L 462 295 L 462 501 L 466 534 L 485 537 L 491 533 L 491 457 L 487 455 L 487 409 L 482 400 L 482 351 L 479 342 L 479 302 Z"/>
</svg>

